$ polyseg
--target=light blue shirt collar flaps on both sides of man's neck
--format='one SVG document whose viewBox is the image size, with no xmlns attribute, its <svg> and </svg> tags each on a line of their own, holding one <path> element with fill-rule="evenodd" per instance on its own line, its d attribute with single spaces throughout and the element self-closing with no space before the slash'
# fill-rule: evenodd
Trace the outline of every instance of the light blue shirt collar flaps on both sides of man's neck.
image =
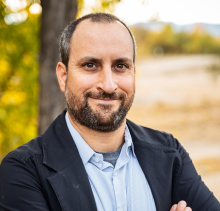
<svg viewBox="0 0 220 211">
<path fill-rule="evenodd" d="M 82 159 L 83 165 L 85 166 L 86 163 L 91 159 L 91 157 L 95 154 L 95 152 L 92 150 L 92 148 L 84 141 L 84 139 L 82 138 L 82 136 L 79 134 L 79 132 L 73 127 L 73 125 L 70 122 L 69 116 L 68 116 L 68 112 L 66 112 L 65 114 L 65 119 L 66 119 L 66 123 L 67 123 L 67 127 L 70 131 L 70 134 L 73 138 L 73 140 L 75 141 L 76 147 L 79 151 L 80 157 Z M 132 153 L 133 155 L 136 157 L 135 153 L 134 153 L 134 145 L 132 142 L 132 138 L 131 138 L 131 134 L 130 131 L 128 129 L 128 126 L 125 126 L 125 133 L 124 133 L 124 137 L 125 137 L 125 145 L 126 148 L 128 150 L 128 148 L 131 146 L 132 148 Z"/>
</svg>

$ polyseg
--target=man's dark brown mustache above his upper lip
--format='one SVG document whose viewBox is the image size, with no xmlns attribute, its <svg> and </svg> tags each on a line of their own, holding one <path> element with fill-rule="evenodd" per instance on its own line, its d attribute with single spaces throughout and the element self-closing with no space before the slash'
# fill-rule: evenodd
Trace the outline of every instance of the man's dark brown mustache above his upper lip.
<svg viewBox="0 0 220 211">
<path fill-rule="evenodd" d="M 122 93 L 106 93 L 106 92 L 88 92 L 85 95 L 86 98 L 91 97 L 91 98 L 97 98 L 97 99 L 110 99 L 110 100 L 123 100 L 125 99 L 125 95 Z"/>
</svg>

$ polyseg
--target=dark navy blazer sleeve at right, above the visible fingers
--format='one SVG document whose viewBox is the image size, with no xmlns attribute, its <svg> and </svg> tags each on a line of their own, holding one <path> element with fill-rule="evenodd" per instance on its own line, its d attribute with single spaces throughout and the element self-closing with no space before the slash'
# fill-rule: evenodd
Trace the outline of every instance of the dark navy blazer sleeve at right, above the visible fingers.
<svg viewBox="0 0 220 211">
<path fill-rule="evenodd" d="M 174 203 L 185 200 L 193 211 L 220 211 L 220 203 L 201 180 L 189 154 L 173 137 L 172 144 L 182 159 L 181 172 L 173 189 Z"/>
</svg>

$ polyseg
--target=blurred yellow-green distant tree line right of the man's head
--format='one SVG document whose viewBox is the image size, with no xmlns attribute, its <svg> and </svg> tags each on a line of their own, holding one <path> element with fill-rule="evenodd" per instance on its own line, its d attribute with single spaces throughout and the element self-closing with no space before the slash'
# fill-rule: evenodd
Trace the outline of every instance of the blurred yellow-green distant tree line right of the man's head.
<svg viewBox="0 0 220 211">
<path fill-rule="evenodd" d="M 159 32 L 132 28 L 138 56 L 149 54 L 219 54 L 220 39 L 195 28 L 193 33 L 175 32 L 165 24 Z"/>
</svg>

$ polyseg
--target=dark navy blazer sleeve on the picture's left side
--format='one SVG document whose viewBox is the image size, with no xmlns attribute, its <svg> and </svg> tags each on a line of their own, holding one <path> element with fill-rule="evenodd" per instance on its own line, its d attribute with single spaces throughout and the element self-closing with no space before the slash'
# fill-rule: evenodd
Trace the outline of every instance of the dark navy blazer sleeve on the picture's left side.
<svg viewBox="0 0 220 211">
<path fill-rule="evenodd" d="M 0 166 L 0 211 L 49 211 L 36 167 L 9 153 Z"/>
</svg>

